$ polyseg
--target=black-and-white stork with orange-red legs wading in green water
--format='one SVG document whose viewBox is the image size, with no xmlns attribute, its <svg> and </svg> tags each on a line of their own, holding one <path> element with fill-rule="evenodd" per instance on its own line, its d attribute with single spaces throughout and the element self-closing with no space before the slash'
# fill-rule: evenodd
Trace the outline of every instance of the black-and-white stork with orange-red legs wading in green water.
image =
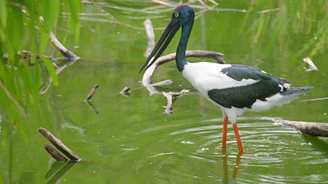
<svg viewBox="0 0 328 184">
<path fill-rule="evenodd" d="M 311 91 L 313 87 L 291 88 L 291 84 L 286 80 L 277 78 L 253 66 L 188 62 L 186 60 L 186 48 L 194 24 L 194 17 L 193 9 L 187 5 L 178 6 L 173 11 L 169 25 L 145 64 L 141 67 L 140 72 L 144 70 L 150 61 L 148 67 L 156 61 L 165 51 L 175 33 L 182 27 L 176 50 L 176 66 L 182 76 L 205 98 L 221 107 L 223 113 L 222 149 L 226 148 L 227 145 L 229 119 L 235 132 L 238 150 L 242 153 L 243 148 L 236 123 L 238 115 L 246 110 L 260 111 L 269 109 L 272 106 L 289 103 L 291 100 L 296 99 L 298 95 Z"/>
</svg>

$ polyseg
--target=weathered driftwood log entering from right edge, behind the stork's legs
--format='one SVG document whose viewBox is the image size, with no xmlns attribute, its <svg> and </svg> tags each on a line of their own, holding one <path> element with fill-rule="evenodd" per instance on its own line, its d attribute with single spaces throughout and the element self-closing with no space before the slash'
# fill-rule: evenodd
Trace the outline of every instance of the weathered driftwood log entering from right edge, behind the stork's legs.
<svg viewBox="0 0 328 184">
<path fill-rule="evenodd" d="M 316 122 L 296 122 L 288 120 L 276 120 L 275 124 L 285 125 L 293 127 L 302 133 L 311 136 L 323 136 L 328 137 L 328 123 L 316 123 Z"/>
</svg>

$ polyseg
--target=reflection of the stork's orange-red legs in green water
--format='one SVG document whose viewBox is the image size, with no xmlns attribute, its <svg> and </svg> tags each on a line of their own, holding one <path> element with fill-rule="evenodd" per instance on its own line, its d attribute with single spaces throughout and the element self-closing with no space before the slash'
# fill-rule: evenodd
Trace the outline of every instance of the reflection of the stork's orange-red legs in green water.
<svg viewBox="0 0 328 184">
<path fill-rule="evenodd" d="M 222 177 L 222 183 L 237 183 L 236 178 L 237 178 L 237 173 L 239 169 L 239 164 L 240 164 L 240 159 L 242 152 L 239 152 L 237 155 L 236 163 L 235 163 L 235 168 L 232 173 L 232 177 L 229 178 L 228 174 L 228 162 L 227 162 L 227 150 L 226 148 L 222 148 L 222 165 L 223 165 L 223 177 Z"/>
</svg>

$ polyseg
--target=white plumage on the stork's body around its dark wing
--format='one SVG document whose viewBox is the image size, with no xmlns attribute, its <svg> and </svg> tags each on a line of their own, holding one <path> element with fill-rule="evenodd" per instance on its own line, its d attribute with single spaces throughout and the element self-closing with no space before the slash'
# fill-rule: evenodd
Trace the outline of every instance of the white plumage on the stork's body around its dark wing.
<svg viewBox="0 0 328 184">
<path fill-rule="evenodd" d="M 273 106 L 279 106 L 282 104 L 289 103 L 291 100 L 297 99 L 299 93 L 292 95 L 281 95 L 280 92 L 265 98 L 267 101 L 261 101 L 257 99 L 253 103 L 252 108 L 238 108 L 232 106 L 231 108 L 223 107 L 217 102 L 213 101 L 208 91 L 212 89 L 226 89 L 226 88 L 236 88 L 241 86 L 249 86 L 259 82 L 254 79 L 242 79 L 237 81 L 229 77 L 226 73 L 222 73 L 223 68 L 231 67 L 231 64 L 218 64 L 211 62 L 196 62 L 188 63 L 185 65 L 184 70 L 182 71 L 183 77 L 185 77 L 206 99 L 211 101 L 213 104 L 221 107 L 223 115 L 228 116 L 232 123 L 236 123 L 237 116 L 242 114 L 246 110 L 252 111 L 261 111 L 267 110 Z M 263 74 L 266 74 L 264 71 L 261 71 Z M 279 84 L 280 85 L 280 84 Z M 289 85 L 286 85 L 289 87 Z"/>
</svg>

